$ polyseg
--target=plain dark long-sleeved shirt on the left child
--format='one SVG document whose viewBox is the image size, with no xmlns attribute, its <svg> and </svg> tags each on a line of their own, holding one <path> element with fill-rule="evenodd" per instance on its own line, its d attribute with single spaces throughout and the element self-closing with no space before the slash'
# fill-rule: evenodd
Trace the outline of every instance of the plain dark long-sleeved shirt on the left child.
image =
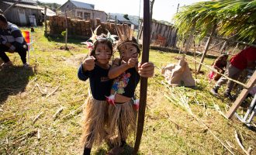
<svg viewBox="0 0 256 155">
<path fill-rule="evenodd" d="M 89 78 L 92 96 L 99 101 L 106 101 L 106 96 L 110 95 L 112 80 L 108 74 L 109 69 L 103 69 L 96 64 L 92 71 L 83 71 L 82 65 L 78 69 L 78 78 L 81 81 Z"/>
</svg>

